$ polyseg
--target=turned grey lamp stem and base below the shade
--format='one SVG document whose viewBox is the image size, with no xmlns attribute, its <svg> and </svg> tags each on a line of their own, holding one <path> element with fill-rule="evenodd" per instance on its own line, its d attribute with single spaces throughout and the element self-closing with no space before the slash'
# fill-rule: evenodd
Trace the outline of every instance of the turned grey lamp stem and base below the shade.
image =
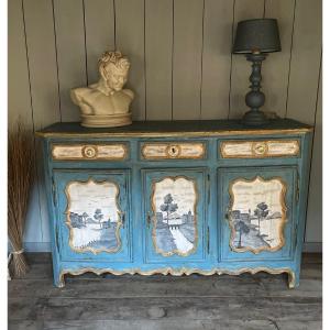
<svg viewBox="0 0 330 330">
<path fill-rule="evenodd" d="M 249 78 L 251 90 L 245 96 L 245 103 L 251 110 L 243 117 L 243 123 L 246 125 L 262 125 L 268 122 L 264 112 L 260 111 L 260 108 L 265 103 L 265 95 L 261 91 L 261 67 L 265 58 L 266 54 L 261 53 L 246 55 L 246 59 L 252 62 L 252 73 Z"/>
</svg>

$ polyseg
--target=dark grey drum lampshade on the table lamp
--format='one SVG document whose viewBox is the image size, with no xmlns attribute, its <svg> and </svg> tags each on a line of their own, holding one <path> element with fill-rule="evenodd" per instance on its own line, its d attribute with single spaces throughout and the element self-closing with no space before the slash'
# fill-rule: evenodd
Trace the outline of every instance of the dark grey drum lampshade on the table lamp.
<svg viewBox="0 0 330 330">
<path fill-rule="evenodd" d="M 233 53 L 273 53 L 280 51 L 280 41 L 275 19 L 246 20 L 238 23 Z"/>
</svg>

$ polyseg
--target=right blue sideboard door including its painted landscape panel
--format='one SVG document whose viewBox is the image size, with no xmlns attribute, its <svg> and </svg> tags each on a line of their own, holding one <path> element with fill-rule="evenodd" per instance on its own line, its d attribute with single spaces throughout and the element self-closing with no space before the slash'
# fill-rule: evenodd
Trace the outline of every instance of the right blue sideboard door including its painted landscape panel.
<svg viewBox="0 0 330 330">
<path fill-rule="evenodd" d="M 296 167 L 219 168 L 221 261 L 289 260 L 296 245 Z"/>
</svg>

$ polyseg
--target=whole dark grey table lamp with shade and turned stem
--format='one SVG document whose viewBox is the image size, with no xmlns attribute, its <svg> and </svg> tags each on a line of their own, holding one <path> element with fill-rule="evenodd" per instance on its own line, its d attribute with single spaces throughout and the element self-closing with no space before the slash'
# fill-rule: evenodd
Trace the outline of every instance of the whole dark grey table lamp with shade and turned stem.
<svg viewBox="0 0 330 330">
<path fill-rule="evenodd" d="M 238 23 L 232 53 L 245 54 L 246 59 L 252 62 L 251 90 L 245 96 L 245 103 L 251 110 L 243 117 L 243 123 L 246 125 L 262 125 L 268 122 L 264 112 L 260 111 L 260 108 L 265 103 L 265 95 L 260 90 L 261 67 L 267 53 L 279 51 L 277 20 L 255 19 Z"/>
</svg>

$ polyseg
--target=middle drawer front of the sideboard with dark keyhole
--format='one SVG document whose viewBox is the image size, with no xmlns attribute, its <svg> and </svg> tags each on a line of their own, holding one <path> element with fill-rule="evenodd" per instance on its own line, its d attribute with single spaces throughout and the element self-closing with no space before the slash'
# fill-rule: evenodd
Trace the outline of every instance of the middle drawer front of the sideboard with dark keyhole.
<svg viewBox="0 0 330 330">
<path fill-rule="evenodd" d="M 206 142 L 144 142 L 142 160 L 205 160 Z"/>
</svg>

